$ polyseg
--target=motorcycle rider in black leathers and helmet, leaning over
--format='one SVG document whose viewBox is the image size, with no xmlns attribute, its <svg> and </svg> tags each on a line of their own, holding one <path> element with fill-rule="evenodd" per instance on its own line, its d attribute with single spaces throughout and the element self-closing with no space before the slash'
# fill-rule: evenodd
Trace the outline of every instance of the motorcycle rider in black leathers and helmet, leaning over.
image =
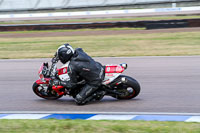
<svg viewBox="0 0 200 133">
<path fill-rule="evenodd" d="M 81 91 L 76 95 L 75 101 L 78 105 L 85 104 L 86 98 L 91 96 L 104 79 L 104 68 L 88 56 L 81 48 L 73 49 L 69 44 L 61 45 L 56 52 L 58 59 L 63 63 L 69 63 L 68 81 L 53 80 L 54 85 L 62 85 L 67 88 L 74 88 L 77 77 L 80 76 L 86 81 Z"/>
</svg>

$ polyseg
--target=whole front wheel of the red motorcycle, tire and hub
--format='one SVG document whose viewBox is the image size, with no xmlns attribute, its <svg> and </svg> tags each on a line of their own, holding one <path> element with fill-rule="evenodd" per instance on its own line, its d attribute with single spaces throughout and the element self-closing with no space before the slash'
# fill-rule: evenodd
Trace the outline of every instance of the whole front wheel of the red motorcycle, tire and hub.
<svg viewBox="0 0 200 133">
<path fill-rule="evenodd" d="M 58 95 L 58 93 L 56 93 L 54 90 L 51 90 L 50 92 L 48 92 L 47 88 L 48 88 L 48 85 L 40 85 L 40 84 L 37 84 L 36 82 L 33 84 L 33 87 L 32 87 L 33 92 L 37 96 L 47 99 L 47 100 L 56 100 L 63 96 L 63 95 Z"/>
</svg>

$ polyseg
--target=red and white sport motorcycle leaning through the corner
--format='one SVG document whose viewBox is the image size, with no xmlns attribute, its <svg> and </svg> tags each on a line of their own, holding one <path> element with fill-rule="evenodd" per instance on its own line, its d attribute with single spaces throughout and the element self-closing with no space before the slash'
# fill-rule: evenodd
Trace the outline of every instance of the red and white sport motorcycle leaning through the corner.
<svg viewBox="0 0 200 133">
<path fill-rule="evenodd" d="M 39 68 L 39 79 L 36 80 L 32 86 L 33 92 L 44 99 L 56 100 L 62 96 L 69 95 L 73 98 L 81 91 L 85 85 L 85 80 L 80 79 L 76 83 L 75 88 L 66 88 L 64 86 L 55 86 L 51 84 L 53 79 L 68 81 L 69 75 L 67 68 L 69 63 L 64 64 L 57 69 L 58 59 L 52 58 L 52 65 L 49 67 L 48 63 L 43 63 Z M 100 101 L 105 95 L 114 97 L 116 99 L 132 99 L 140 93 L 139 83 L 132 77 L 121 75 L 127 69 L 127 64 L 105 65 L 105 78 L 102 85 L 91 96 L 86 98 L 85 102 Z M 78 78 L 78 77 L 77 77 Z"/>
</svg>

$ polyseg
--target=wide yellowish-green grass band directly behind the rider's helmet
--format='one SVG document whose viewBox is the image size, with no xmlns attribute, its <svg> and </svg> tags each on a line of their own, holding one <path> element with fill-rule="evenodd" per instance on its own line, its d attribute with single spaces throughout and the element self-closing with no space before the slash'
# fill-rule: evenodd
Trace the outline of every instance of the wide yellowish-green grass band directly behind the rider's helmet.
<svg viewBox="0 0 200 133">
<path fill-rule="evenodd" d="M 200 55 L 200 32 L 0 38 L 0 58 L 52 57 L 63 43 L 95 57 Z"/>
</svg>

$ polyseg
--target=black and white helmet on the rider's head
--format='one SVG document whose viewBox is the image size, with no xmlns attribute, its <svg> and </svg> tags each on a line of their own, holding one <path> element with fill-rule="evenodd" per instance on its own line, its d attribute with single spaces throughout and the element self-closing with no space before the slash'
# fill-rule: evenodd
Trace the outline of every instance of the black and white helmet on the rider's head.
<svg viewBox="0 0 200 133">
<path fill-rule="evenodd" d="M 74 54 L 74 49 L 69 44 L 61 45 L 57 50 L 59 60 L 65 64 Z"/>
</svg>

